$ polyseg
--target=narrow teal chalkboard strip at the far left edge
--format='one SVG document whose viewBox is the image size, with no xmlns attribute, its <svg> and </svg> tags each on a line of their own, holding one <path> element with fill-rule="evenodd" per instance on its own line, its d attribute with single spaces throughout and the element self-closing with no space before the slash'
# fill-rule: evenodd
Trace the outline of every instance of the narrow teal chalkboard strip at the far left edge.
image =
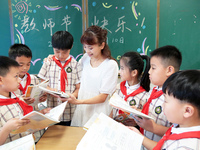
<svg viewBox="0 0 200 150">
<path fill-rule="evenodd" d="M 11 45 L 8 1 L 1 0 L 0 6 L 0 55 L 8 56 L 8 49 Z"/>
</svg>

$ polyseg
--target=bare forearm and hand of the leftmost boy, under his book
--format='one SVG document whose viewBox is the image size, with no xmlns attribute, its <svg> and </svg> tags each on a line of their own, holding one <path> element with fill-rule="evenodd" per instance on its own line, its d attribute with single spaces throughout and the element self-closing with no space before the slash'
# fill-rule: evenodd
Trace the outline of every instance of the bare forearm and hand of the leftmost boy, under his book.
<svg viewBox="0 0 200 150">
<path fill-rule="evenodd" d="M 18 118 L 13 118 L 6 122 L 6 124 L 0 130 L 0 145 L 5 143 L 11 131 L 18 129 L 29 122 L 29 120 L 20 120 Z"/>
</svg>

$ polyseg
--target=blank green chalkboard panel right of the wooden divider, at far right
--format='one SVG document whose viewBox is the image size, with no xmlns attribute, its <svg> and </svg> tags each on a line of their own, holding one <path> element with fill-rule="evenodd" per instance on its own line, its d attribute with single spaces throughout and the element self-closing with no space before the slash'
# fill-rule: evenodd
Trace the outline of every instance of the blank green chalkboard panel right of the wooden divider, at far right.
<svg viewBox="0 0 200 150">
<path fill-rule="evenodd" d="M 183 56 L 181 69 L 200 69 L 200 1 L 161 0 L 159 46 L 175 45 Z"/>
</svg>

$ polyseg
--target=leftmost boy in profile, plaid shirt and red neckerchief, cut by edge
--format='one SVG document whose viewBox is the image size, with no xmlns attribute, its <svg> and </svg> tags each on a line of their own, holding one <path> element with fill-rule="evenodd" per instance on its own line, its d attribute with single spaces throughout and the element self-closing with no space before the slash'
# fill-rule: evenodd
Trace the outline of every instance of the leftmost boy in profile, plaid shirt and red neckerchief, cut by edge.
<svg viewBox="0 0 200 150">
<path fill-rule="evenodd" d="M 21 118 L 22 116 L 33 111 L 33 107 L 20 100 L 14 91 L 19 87 L 19 64 L 6 56 L 0 56 L 0 128 L 12 118 Z M 44 109 L 41 113 L 49 112 Z M 36 132 L 37 133 L 37 132 Z M 30 134 L 23 132 L 19 134 L 9 134 L 6 142 L 13 141 Z M 35 135 L 35 134 L 34 134 Z M 38 140 L 36 136 L 36 141 Z"/>
</svg>

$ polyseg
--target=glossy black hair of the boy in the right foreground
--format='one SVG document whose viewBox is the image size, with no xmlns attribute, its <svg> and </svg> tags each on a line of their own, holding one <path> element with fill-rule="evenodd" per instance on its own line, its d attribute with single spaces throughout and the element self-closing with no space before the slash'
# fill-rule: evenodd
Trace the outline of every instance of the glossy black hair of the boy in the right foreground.
<svg viewBox="0 0 200 150">
<path fill-rule="evenodd" d="M 200 71 L 184 70 L 172 74 L 163 84 L 163 92 L 194 105 L 200 116 Z"/>
</svg>

